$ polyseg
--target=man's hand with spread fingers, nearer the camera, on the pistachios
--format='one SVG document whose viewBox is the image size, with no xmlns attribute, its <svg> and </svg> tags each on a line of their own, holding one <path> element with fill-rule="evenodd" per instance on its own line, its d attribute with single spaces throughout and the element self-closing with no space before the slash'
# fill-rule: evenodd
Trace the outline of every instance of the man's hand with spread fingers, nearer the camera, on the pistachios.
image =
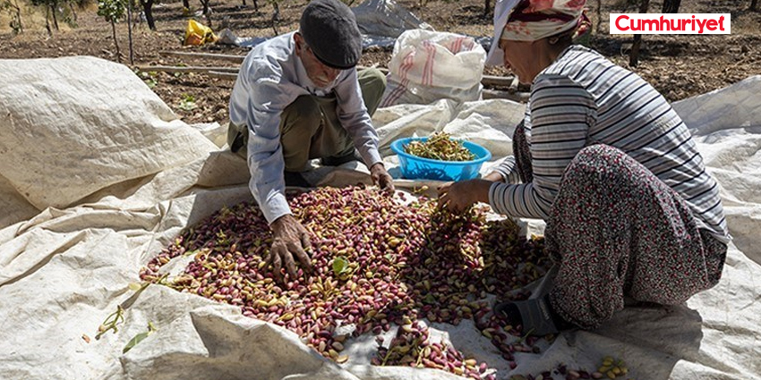
<svg viewBox="0 0 761 380">
<path fill-rule="evenodd" d="M 290 278 L 295 280 L 294 255 L 304 267 L 304 272 L 312 272 L 312 259 L 306 253 L 306 249 L 312 248 L 312 241 L 309 239 L 309 232 L 296 220 L 294 215 L 280 216 L 275 222 L 272 222 L 270 227 L 274 236 L 266 263 L 274 266 L 275 276 L 282 280 L 280 269 L 285 263 Z"/>
</svg>

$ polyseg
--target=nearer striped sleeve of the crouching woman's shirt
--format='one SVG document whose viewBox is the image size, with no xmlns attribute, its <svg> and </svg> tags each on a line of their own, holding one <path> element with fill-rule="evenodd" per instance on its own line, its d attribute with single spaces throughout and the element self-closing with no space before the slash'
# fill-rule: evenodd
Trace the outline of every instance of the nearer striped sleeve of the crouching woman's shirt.
<svg viewBox="0 0 761 380">
<path fill-rule="evenodd" d="M 586 89 L 562 75 L 537 77 L 529 106 L 534 181 L 494 183 L 489 203 L 500 214 L 547 219 L 566 167 L 586 146 L 597 106 Z"/>
</svg>

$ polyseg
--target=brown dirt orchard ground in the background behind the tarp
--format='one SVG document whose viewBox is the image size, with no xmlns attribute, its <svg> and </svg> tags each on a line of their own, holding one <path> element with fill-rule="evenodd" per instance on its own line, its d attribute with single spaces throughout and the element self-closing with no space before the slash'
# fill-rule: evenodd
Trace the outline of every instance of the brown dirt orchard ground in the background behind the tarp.
<svg viewBox="0 0 761 380">
<path fill-rule="evenodd" d="M 295 30 L 305 0 L 281 0 L 279 21 L 272 21 L 272 2 L 253 0 L 211 0 L 211 26 L 215 31 L 230 28 L 239 37 L 272 37 L 276 33 Z M 357 3 L 359 0 L 355 0 Z M 20 1 L 20 3 L 22 3 Z M 493 0 L 492 0 L 493 3 Z M 609 34 L 608 13 L 637 13 L 632 0 L 604 0 L 603 22 L 597 30 L 597 2 L 587 6 L 595 30 L 590 45 L 612 61 L 628 67 L 630 36 Z M 399 0 L 421 20 L 435 30 L 450 31 L 471 36 L 492 35 L 492 14 L 483 16 L 483 0 Z M 629 4 L 629 5 L 628 5 Z M 649 80 L 671 101 L 721 89 L 748 76 L 761 74 L 761 13 L 748 12 L 750 0 L 690 0 L 683 1 L 681 13 L 731 13 L 731 35 L 714 36 L 656 36 L 644 38 L 640 64 L 630 68 Z M 154 6 L 156 31 L 150 31 L 143 22 L 133 30 L 135 66 L 178 65 L 235 66 L 235 63 L 189 59 L 162 55 L 163 51 L 186 51 L 244 55 L 246 48 L 210 44 L 182 46 L 187 20 L 200 9 L 199 2 L 191 15 L 183 13 L 182 2 L 167 0 Z M 651 2 L 650 13 L 659 13 L 660 2 Z M 13 35 L 8 27 L 7 14 L 0 15 L 0 58 L 41 58 L 65 55 L 94 55 L 116 61 L 111 26 L 96 14 L 97 6 L 76 11 L 77 27 L 63 21 L 60 30 L 48 37 L 44 12 L 24 10 L 24 32 Z M 202 17 L 195 20 L 206 23 Z M 127 26 L 116 27 L 121 62 L 129 63 Z M 365 51 L 361 64 L 378 63 L 386 67 L 391 58 L 390 49 L 373 48 Z M 485 71 L 491 75 L 509 74 L 504 68 Z M 146 83 L 175 110 L 185 122 L 227 122 L 227 103 L 233 80 L 209 78 L 202 73 L 139 72 Z"/>
</svg>

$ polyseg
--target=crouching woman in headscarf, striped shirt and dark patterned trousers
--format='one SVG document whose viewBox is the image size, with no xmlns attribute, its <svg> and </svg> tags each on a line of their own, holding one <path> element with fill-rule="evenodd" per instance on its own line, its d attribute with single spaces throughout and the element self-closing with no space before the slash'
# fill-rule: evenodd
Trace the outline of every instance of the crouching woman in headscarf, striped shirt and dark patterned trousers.
<svg viewBox="0 0 761 380">
<path fill-rule="evenodd" d="M 480 201 L 547 222 L 552 290 L 495 308 L 537 335 L 601 325 L 625 297 L 684 302 L 718 283 L 731 239 L 717 184 L 680 116 L 637 74 L 572 45 L 588 27 L 585 3 L 498 3 L 488 61 L 501 54 L 531 84 L 515 156 L 439 192 L 440 207 L 454 211 Z"/>
</svg>

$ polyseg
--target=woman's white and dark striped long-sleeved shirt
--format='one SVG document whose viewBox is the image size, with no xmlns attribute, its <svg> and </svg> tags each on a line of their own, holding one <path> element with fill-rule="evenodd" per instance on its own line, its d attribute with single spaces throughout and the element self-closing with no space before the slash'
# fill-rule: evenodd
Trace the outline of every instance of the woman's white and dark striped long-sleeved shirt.
<svg viewBox="0 0 761 380">
<path fill-rule="evenodd" d="M 718 185 L 687 126 L 636 73 L 570 46 L 534 79 L 524 128 L 534 181 L 517 183 L 513 157 L 500 164 L 507 183 L 492 184 L 489 203 L 501 214 L 546 220 L 571 160 L 603 143 L 646 166 L 687 201 L 701 228 L 729 241 Z"/>
</svg>

